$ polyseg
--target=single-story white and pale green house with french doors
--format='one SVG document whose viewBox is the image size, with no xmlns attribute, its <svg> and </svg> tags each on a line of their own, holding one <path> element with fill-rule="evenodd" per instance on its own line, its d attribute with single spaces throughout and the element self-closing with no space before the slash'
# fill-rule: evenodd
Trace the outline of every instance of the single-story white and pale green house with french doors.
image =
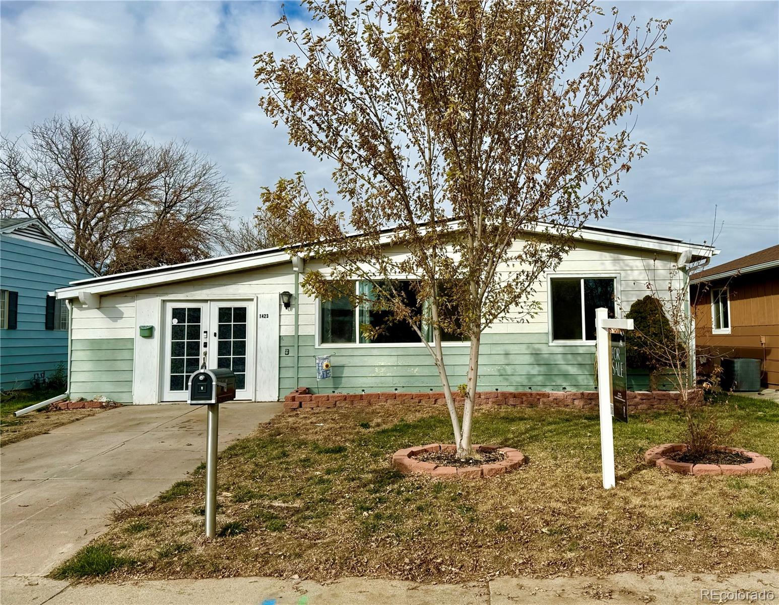
<svg viewBox="0 0 779 605">
<path fill-rule="evenodd" d="M 576 249 L 539 281 L 534 313 L 511 310 L 485 331 L 479 388 L 593 390 L 594 310 L 606 306 L 622 317 L 647 294 L 647 281 L 670 281 L 673 292 L 682 287 L 677 267 L 683 272 L 716 252 L 678 239 L 582 228 Z M 322 394 L 439 391 L 432 359 L 410 330 L 395 326 L 368 341 L 359 326 L 381 321 L 380 314 L 302 292 L 305 272 L 320 270 L 326 267 L 316 259 L 266 249 L 58 289 L 72 313 L 70 397 L 182 402 L 189 375 L 202 363 L 231 368 L 237 398 L 249 401 L 284 398 L 297 387 Z M 457 384 L 467 372 L 467 342 L 442 346 Z M 315 358 L 328 355 L 332 376 L 318 383 Z"/>
</svg>

